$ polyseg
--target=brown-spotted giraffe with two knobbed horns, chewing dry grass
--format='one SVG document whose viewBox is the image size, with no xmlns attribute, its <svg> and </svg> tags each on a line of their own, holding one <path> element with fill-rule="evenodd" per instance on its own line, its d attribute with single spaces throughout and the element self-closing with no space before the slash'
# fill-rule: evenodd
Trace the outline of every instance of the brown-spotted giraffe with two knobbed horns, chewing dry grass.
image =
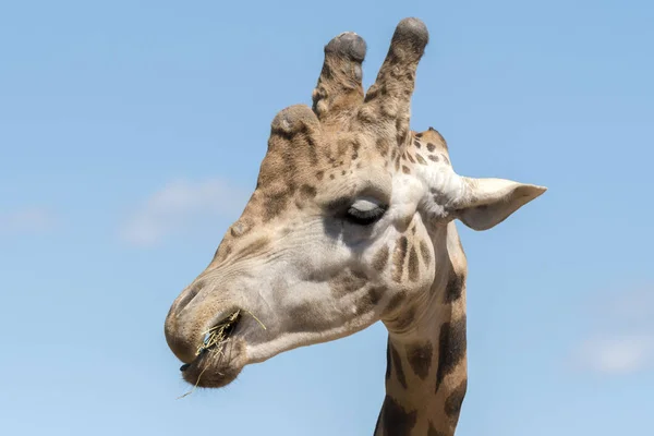
<svg viewBox="0 0 654 436">
<path fill-rule="evenodd" d="M 223 387 L 245 365 L 380 320 L 386 397 L 374 435 L 455 434 L 468 384 L 456 220 L 491 229 L 546 187 L 459 175 L 436 130 L 410 129 L 427 41 L 422 21 L 400 21 L 364 93 L 366 44 L 340 34 L 325 46 L 313 107 L 274 118 L 256 189 L 166 318 L 187 383 Z M 225 341 L 203 348 L 226 318 Z"/>
</svg>

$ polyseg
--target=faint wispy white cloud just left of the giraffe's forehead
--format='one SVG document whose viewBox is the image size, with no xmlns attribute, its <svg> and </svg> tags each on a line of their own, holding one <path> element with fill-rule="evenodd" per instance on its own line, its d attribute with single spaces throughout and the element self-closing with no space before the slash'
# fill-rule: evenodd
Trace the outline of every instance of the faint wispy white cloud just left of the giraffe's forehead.
<svg viewBox="0 0 654 436">
<path fill-rule="evenodd" d="M 222 180 L 174 180 L 148 198 L 121 229 L 131 244 L 150 246 L 166 237 L 211 231 L 217 218 L 237 218 L 246 195 Z"/>
</svg>

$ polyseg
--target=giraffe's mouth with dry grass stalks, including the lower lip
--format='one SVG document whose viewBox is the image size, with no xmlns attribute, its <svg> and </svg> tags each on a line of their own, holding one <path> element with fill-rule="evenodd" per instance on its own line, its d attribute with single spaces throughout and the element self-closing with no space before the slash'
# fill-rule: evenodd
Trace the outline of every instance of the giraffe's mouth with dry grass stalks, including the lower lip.
<svg viewBox="0 0 654 436">
<path fill-rule="evenodd" d="M 205 331 L 195 359 L 180 367 L 182 377 L 195 387 L 217 388 L 229 385 L 243 364 L 244 341 L 234 336 L 242 314 L 237 310 Z"/>
</svg>

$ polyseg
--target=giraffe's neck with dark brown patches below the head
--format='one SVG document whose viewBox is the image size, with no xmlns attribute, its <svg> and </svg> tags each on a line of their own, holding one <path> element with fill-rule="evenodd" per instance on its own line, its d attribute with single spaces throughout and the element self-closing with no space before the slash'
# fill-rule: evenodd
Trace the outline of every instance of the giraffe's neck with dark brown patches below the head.
<svg viewBox="0 0 654 436">
<path fill-rule="evenodd" d="M 432 238 L 448 250 L 436 253 L 441 272 L 429 301 L 407 306 L 414 313 L 409 329 L 387 324 L 386 398 L 375 436 L 455 434 L 468 380 L 465 258 L 453 222 Z"/>
</svg>

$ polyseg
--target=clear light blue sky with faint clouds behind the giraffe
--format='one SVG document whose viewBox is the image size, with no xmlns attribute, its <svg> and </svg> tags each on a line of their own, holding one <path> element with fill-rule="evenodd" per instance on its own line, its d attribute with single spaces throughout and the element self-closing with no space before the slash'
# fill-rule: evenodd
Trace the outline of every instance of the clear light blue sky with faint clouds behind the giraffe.
<svg viewBox="0 0 654 436">
<path fill-rule="evenodd" d="M 458 435 L 654 426 L 654 3 L 14 1 L 0 5 L 3 434 L 372 434 L 382 325 L 187 387 L 172 300 L 254 187 L 275 113 L 311 101 L 323 46 L 396 24 L 431 44 L 412 128 L 457 171 L 549 191 L 469 258 Z"/>
</svg>

